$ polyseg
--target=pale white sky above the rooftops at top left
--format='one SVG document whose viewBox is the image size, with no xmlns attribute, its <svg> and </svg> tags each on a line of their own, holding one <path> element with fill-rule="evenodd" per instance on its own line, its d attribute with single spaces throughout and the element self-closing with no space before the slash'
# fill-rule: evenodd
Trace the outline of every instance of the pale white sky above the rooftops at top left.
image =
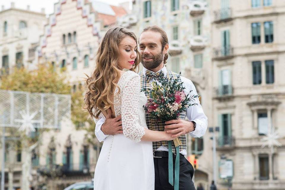
<svg viewBox="0 0 285 190">
<path fill-rule="evenodd" d="M 54 3 L 57 3 L 59 0 L 0 0 L 0 5 L 4 5 L 5 9 L 8 9 L 11 7 L 11 2 L 15 3 L 15 8 L 19 9 L 27 9 L 27 5 L 30 5 L 31 11 L 40 12 L 41 8 L 45 8 L 45 14 L 49 15 L 53 13 L 53 5 Z M 131 0 L 97 0 L 102 1 L 108 4 L 112 5 L 118 5 L 118 3 L 131 1 Z"/>
</svg>

